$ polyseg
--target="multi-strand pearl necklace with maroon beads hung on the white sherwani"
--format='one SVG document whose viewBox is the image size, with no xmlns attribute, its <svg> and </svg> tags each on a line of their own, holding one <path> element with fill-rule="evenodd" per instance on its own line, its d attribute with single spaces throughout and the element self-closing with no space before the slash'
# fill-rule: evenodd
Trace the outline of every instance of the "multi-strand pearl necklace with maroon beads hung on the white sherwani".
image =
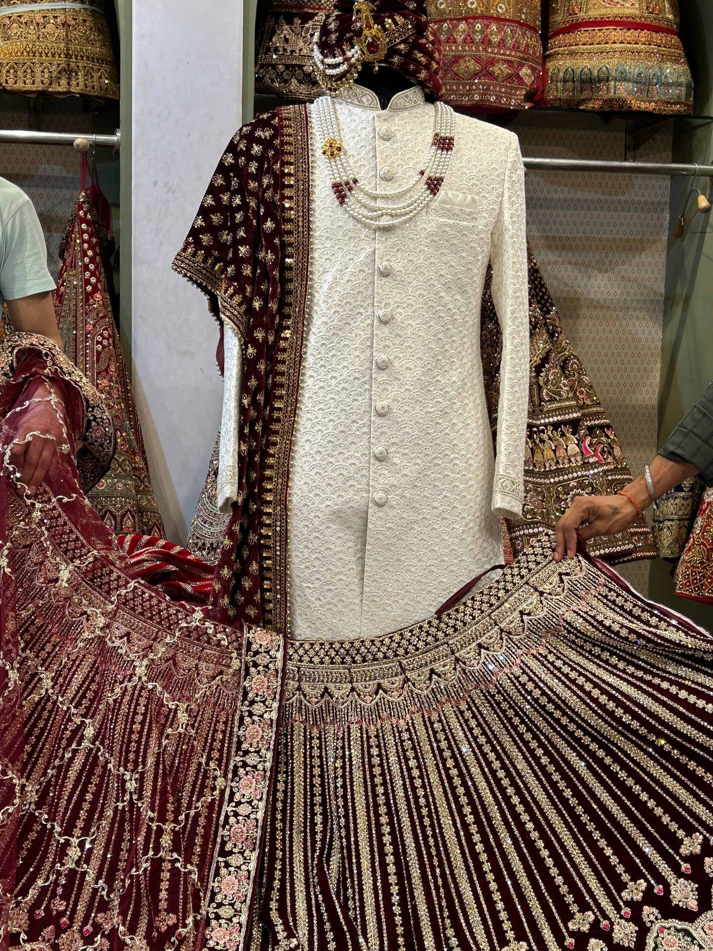
<svg viewBox="0 0 713 951">
<path fill-rule="evenodd" d="M 434 138 L 426 161 L 409 184 L 395 191 L 373 191 L 359 183 L 344 154 L 337 107 L 330 96 L 321 96 L 315 102 L 315 120 L 322 155 L 332 169 L 332 190 L 337 202 L 357 222 L 371 228 L 392 227 L 411 221 L 433 202 L 453 152 L 455 113 L 450 106 L 435 104 Z"/>
</svg>

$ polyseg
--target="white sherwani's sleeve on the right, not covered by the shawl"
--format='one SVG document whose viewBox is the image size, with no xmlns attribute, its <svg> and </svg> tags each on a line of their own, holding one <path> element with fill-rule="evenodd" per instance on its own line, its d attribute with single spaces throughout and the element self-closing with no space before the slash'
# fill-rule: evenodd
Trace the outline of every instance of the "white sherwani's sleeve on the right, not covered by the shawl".
<svg viewBox="0 0 713 951">
<path fill-rule="evenodd" d="M 525 235 L 525 172 L 513 136 L 500 209 L 491 233 L 492 302 L 503 338 L 492 511 L 522 515 L 525 437 L 530 385 L 528 249 Z"/>
</svg>

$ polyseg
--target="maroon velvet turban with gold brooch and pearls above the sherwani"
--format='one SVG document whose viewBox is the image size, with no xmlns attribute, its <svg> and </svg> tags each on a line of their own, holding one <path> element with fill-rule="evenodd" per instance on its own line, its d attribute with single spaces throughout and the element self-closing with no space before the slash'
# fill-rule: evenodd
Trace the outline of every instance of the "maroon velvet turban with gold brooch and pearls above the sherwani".
<svg viewBox="0 0 713 951">
<path fill-rule="evenodd" d="M 383 29 L 387 41 L 392 38 L 380 62 L 441 99 L 440 37 L 429 29 L 426 0 L 374 0 L 369 6 L 376 27 Z M 317 48 L 325 59 L 343 57 L 357 46 L 361 35 L 354 0 L 335 0 L 319 29 Z"/>
</svg>

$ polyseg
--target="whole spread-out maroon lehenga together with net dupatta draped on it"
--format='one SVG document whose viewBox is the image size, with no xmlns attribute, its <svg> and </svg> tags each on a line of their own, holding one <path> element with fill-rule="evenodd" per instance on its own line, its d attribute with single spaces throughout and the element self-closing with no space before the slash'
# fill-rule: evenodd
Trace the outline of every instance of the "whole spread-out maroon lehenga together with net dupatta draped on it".
<svg viewBox="0 0 713 951">
<path fill-rule="evenodd" d="M 1 355 L 6 943 L 713 947 L 707 634 L 547 537 L 384 637 L 224 626 L 87 505 L 96 392 L 47 340 Z M 67 432 L 28 497 L 6 450 L 38 378 Z"/>
</svg>

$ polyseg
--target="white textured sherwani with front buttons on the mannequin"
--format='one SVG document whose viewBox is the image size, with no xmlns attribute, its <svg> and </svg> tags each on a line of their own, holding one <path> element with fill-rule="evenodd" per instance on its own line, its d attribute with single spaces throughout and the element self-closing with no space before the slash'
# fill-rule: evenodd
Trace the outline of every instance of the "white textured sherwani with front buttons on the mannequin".
<svg viewBox="0 0 713 951">
<path fill-rule="evenodd" d="M 350 87 L 336 104 L 359 181 L 408 184 L 434 135 L 434 107 L 421 90 L 380 110 L 373 92 Z M 433 614 L 502 561 L 500 516 L 522 512 L 524 176 L 511 132 L 457 116 L 438 200 L 374 231 L 337 204 L 310 126 L 311 301 L 290 473 L 290 632 L 340 640 Z M 489 259 L 503 333 L 496 459 L 480 360 Z M 235 497 L 241 364 L 238 340 L 225 331 L 223 505 Z"/>
</svg>

